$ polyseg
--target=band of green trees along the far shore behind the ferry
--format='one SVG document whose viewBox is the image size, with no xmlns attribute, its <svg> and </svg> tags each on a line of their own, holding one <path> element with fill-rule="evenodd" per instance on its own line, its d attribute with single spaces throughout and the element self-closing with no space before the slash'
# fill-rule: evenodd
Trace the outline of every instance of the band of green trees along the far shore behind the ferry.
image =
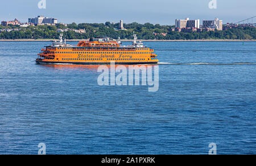
<svg viewBox="0 0 256 166">
<path fill-rule="evenodd" d="M 173 31 L 174 26 L 160 24 L 124 24 L 119 30 L 119 23 L 81 23 L 56 24 L 56 26 L 0 26 L 0 41 L 49 41 L 58 39 L 62 33 L 69 41 L 89 38 L 113 38 L 131 41 L 133 33 L 143 41 L 254 41 L 255 27 L 228 28 L 223 31 L 179 32 Z M 225 26 L 224 26 L 225 28 Z M 47 40 L 46 40 L 47 39 Z"/>
</svg>

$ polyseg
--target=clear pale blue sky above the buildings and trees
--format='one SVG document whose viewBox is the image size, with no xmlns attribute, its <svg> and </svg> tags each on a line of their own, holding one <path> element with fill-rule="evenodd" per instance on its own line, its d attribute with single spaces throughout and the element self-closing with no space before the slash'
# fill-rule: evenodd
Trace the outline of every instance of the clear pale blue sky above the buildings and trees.
<svg viewBox="0 0 256 166">
<path fill-rule="evenodd" d="M 37 15 L 57 18 L 62 23 L 160 23 L 174 24 L 175 19 L 214 19 L 238 22 L 256 15 L 255 0 L 217 0 L 217 9 L 209 9 L 211 0 L 46 0 L 47 9 L 38 9 L 40 0 L 1 0 L 0 21 Z M 3 7 L 4 6 L 4 7 Z M 256 22 L 255 20 L 253 20 Z"/>
</svg>

